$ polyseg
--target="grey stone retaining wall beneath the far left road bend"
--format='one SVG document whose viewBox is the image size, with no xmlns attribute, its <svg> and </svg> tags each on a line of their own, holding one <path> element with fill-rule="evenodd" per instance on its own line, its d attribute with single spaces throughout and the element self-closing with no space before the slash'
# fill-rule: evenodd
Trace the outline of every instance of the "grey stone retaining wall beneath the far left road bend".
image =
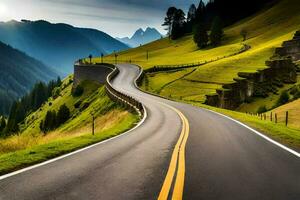
<svg viewBox="0 0 300 200">
<path fill-rule="evenodd" d="M 74 65 L 74 83 L 73 87 L 76 87 L 84 80 L 97 81 L 100 84 L 106 83 L 106 77 L 111 73 L 113 68 L 109 65 L 84 65 L 75 64 Z"/>
</svg>

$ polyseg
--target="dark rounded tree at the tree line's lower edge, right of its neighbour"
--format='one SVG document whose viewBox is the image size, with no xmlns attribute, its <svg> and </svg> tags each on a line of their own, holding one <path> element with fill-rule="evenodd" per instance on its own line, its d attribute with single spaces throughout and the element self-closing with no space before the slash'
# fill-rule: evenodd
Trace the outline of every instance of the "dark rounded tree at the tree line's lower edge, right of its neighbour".
<svg viewBox="0 0 300 200">
<path fill-rule="evenodd" d="M 220 17 L 215 17 L 212 27 L 211 27 L 211 33 L 210 33 L 210 42 L 213 46 L 218 46 L 223 37 L 223 25 Z"/>
</svg>

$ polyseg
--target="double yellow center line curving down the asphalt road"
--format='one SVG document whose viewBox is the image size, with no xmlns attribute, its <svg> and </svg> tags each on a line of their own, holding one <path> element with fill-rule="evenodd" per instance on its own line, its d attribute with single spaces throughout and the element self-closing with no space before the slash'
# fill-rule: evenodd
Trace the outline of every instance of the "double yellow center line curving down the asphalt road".
<svg viewBox="0 0 300 200">
<path fill-rule="evenodd" d="M 167 200 L 172 195 L 172 200 L 181 200 L 183 196 L 184 177 L 185 177 L 185 146 L 189 136 L 189 122 L 187 118 L 176 108 L 170 107 L 181 118 L 182 130 L 176 146 L 173 150 L 169 169 L 164 180 L 163 186 L 158 196 L 158 200 Z M 173 179 L 176 173 L 176 180 L 173 187 L 173 193 L 170 193 Z"/>
</svg>

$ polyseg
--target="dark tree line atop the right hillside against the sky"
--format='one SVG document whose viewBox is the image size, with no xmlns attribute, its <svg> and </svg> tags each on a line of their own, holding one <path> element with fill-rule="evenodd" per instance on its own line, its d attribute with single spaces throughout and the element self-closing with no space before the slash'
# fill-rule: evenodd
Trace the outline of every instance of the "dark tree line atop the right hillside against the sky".
<svg viewBox="0 0 300 200">
<path fill-rule="evenodd" d="M 167 27 L 170 39 L 176 40 L 193 33 L 199 48 L 209 44 L 217 46 L 222 41 L 223 27 L 255 13 L 266 3 L 273 1 L 251 0 L 245 3 L 241 0 L 210 0 L 205 4 L 201 0 L 197 7 L 195 4 L 190 6 L 187 15 L 181 9 L 170 7 L 162 25 Z M 241 31 L 244 40 L 246 34 L 246 30 Z"/>
</svg>

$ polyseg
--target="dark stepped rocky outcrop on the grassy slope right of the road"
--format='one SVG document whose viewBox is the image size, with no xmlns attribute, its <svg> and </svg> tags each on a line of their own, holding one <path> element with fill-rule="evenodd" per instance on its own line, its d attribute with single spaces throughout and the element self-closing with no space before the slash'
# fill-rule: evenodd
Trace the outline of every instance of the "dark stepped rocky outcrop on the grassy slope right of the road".
<svg viewBox="0 0 300 200">
<path fill-rule="evenodd" d="M 238 73 L 233 83 L 223 85 L 216 94 L 206 95 L 206 104 L 233 110 L 253 97 L 277 93 L 284 83 L 297 82 L 297 66 L 293 62 L 297 60 L 300 60 L 300 32 L 276 49 L 274 57 L 266 61 L 266 69 Z"/>
</svg>

